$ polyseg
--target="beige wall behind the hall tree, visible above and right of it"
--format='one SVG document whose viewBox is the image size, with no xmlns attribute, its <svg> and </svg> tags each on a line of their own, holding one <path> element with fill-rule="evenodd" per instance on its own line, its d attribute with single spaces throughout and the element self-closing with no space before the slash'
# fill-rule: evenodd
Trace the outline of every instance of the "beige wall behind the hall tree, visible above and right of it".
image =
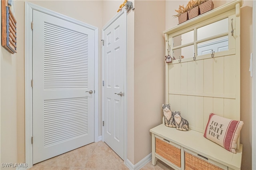
<svg viewBox="0 0 256 170">
<path fill-rule="evenodd" d="M 178 18 L 173 18 L 174 11 L 179 5 L 186 6 L 188 1 L 166 1 L 166 30 L 178 24 Z M 214 0 L 214 8 L 230 2 L 229 0 Z M 241 143 L 243 144 L 242 169 L 252 168 L 252 79 L 250 77 L 249 61 L 252 53 L 252 1 L 244 0 L 241 8 L 241 117 L 244 126 L 241 130 Z"/>
</svg>

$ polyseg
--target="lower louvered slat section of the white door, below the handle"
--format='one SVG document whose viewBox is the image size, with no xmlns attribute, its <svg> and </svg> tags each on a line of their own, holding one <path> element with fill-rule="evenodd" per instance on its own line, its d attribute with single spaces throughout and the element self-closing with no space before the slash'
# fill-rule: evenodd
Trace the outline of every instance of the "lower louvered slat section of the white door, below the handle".
<svg viewBox="0 0 256 170">
<path fill-rule="evenodd" d="M 62 99 L 44 103 L 44 146 L 76 138 L 87 133 L 87 99 Z M 60 114 L 64 111 L 64 114 Z M 80 112 L 77 112 L 80 111 Z M 77 125 L 80 121 L 83 126 Z M 68 123 L 69 127 L 66 126 Z M 66 127 L 66 128 L 63 128 Z M 72 128 L 71 128 L 72 127 Z M 61 132 L 61 133 L 60 133 Z M 76 135 L 75 135 L 76 134 Z"/>
</svg>

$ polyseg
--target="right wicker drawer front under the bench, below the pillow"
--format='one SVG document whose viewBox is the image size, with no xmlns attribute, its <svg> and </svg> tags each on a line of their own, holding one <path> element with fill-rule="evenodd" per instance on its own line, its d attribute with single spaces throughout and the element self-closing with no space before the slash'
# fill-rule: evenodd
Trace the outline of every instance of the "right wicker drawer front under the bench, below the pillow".
<svg viewBox="0 0 256 170">
<path fill-rule="evenodd" d="M 185 170 L 223 170 L 222 168 L 185 152 Z"/>
</svg>

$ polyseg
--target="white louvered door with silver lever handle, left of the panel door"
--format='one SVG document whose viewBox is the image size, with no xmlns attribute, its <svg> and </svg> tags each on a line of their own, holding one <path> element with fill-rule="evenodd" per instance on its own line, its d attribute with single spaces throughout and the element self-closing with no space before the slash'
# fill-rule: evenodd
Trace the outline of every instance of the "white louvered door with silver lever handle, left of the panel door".
<svg viewBox="0 0 256 170">
<path fill-rule="evenodd" d="M 35 10 L 33 23 L 35 164 L 94 142 L 94 30 Z"/>
</svg>

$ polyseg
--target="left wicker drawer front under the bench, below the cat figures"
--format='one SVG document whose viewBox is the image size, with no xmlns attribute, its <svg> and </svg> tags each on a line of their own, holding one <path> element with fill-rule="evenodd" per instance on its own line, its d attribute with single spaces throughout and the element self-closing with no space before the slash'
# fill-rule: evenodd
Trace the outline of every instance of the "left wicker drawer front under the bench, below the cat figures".
<svg viewBox="0 0 256 170">
<path fill-rule="evenodd" d="M 179 148 L 156 138 L 156 153 L 174 165 L 181 167 L 181 152 Z"/>
</svg>

